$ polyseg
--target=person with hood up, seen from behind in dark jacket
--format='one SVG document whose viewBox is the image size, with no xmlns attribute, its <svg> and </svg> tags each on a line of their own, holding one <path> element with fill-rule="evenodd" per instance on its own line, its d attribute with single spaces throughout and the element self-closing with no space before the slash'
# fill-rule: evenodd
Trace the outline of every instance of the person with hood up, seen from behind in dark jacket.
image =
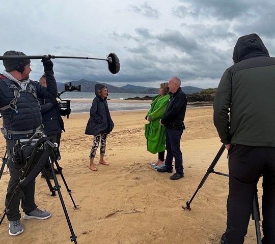
<svg viewBox="0 0 275 244">
<path fill-rule="evenodd" d="M 219 82 L 214 125 L 228 149 L 227 228 L 221 243 L 242 244 L 262 175 L 263 239 L 275 243 L 275 58 L 257 34 L 240 37 Z M 230 116 L 229 116 L 230 115 Z"/>
</svg>

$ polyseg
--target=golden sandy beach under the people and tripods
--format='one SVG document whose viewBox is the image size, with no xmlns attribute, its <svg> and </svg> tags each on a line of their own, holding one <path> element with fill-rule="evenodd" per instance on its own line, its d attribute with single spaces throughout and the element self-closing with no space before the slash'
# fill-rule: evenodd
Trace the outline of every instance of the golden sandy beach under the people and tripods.
<svg viewBox="0 0 275 244">
<path fill-rule="evenodd" d="M 74 209 L 61 176 L 57 177 L 77 243 L 219 244 L 226 228 L 227 177 L 210 174 L 191 203 L 192 209 L 182 209 L 222 146 L 213 126 L 212 107 L 187 109 L 186 130 L 181 138 L 184 178 L 175 181 L 169 179 L 171 173 L 158 173 L 150 166 L 156 162 L 157 155 L 146 150 L 146 113 L 145 110 L 111 111 L 115 128 L 108 136 L 105 155 L 110 165 L 98 164 L 98 150 L 96 172 L 88 169 L 93 138 L 84 131 L 89 113 L 72 113 L 69 119 L 64 118 L 66 132 L 62 134 L 59 164 L 78 209 Z M 0 143 L 3 157 L 3 136 Z M 215 170 L 228 173 L 226 153 Z M 8 180 L 5 168 L 0 180 L 1 216 Z M 261 203 L 260 183 L 258 188 Z M 36 204 L 50 211 L 51 218 L 21 219 L 24 232 L 14 237 L 8 233 L 9 222 L 5 218 L 0 226 L 1 244 L 73 243 L 59 196 L 50 196 L 40 175 L 36 178 Z M 252 220 L 244 243 L 257 243 Z"/>
</svg>

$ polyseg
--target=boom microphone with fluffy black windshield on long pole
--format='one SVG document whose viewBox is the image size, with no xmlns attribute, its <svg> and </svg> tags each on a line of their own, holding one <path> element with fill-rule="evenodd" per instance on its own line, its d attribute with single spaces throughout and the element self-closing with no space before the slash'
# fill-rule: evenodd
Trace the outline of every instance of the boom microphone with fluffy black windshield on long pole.
<svg viewBox="0 0 275 244">
<path fill-rule="evenodd" d="M 0 60 L 8 60 L 8 59 L 42 59 L 46 55 L 39 56 L 28 56 L 28 55 L 7 55 L 7 56 L 0 56 Z M 96 59 L 96 60 L 105 60 L 108 63 L 108 69 L 112 74 L 117 74 L 120 71 L 120 62 L 119 58 L 115 53 L 110 53 L 107 58 L 95 58 L 95 57 L 70 57 L 70 56 L 54 56 L 48 54 L 49 58 L 76 58 L 76 59 Z"/>
</svg>

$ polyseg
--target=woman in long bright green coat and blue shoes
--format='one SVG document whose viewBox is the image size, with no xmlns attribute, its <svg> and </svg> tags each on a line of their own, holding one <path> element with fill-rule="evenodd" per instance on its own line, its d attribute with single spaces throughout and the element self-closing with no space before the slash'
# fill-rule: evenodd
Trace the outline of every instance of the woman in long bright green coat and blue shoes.
<svg viewBox="0 0 275 244">
<path fill-rule="evenodd" d="M 153 97 L 151 108 L 145 119 L 150 123 L 145 125 L 145 138 L 147 139 L 147 150 L 152 154 L 158 153 L 158 160 L 155 164 L 151 164 L 155 169 L 161 169 L 164 166 L 164 154 L 166 128 L 159 124 L 159 120 L 164 115 L 169 101 L 168 83 L 161 83 L 158 89 L 158 95 Z"/>
</svg>

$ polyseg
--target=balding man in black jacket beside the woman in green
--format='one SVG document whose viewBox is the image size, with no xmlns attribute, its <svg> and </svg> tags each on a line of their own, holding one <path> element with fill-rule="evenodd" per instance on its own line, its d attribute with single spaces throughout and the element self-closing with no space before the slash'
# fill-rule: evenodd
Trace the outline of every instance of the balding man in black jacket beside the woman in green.
<svg viewBox="0 0 275 244">
<path fill-rule="evenodd" d="M 171 93 L 164 116 L 160 119 L 161 126 L 166 127 L 166 150 L 167 156 L 165 166 L 158 169 L 158 172 L 173 172 L 173 158 L 175 158 L 176 173 L 170 176 L 170 179 L 177 180 L 183 177 L 183 160 L 180 150 L 180 139 L 183 133 L 184 117 L 187 105 L 187 97 L 182 92 L 181 81 L 177 77 L 169 80 L 168 86 Z"/>
</svg>

